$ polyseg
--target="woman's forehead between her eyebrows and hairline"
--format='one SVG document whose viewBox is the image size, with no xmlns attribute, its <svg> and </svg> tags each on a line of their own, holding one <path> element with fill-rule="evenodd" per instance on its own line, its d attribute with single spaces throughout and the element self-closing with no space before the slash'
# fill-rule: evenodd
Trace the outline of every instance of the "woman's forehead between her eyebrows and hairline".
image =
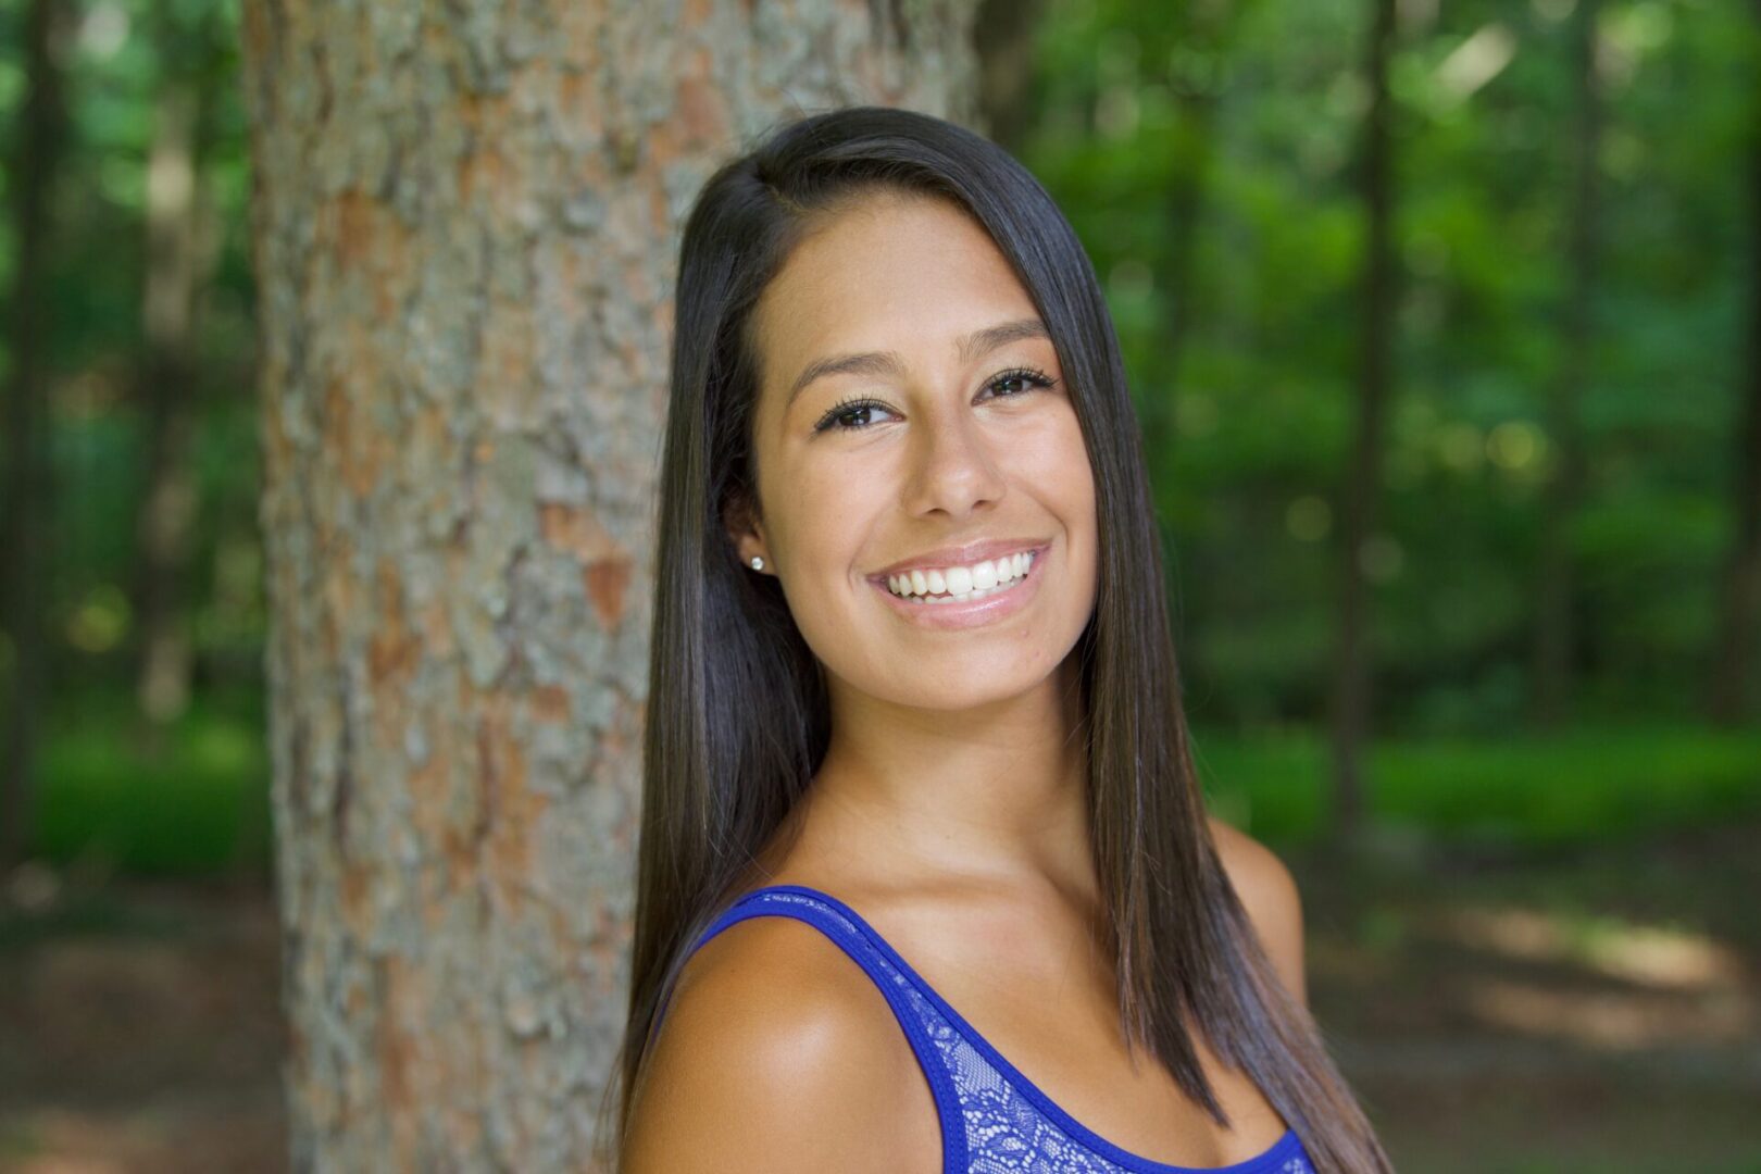
<svg viewBox="0 0 1761 1174">
<path fill-rule="evenodd" d="M 766 385 L 835 350 L 953 357 L 954 340 L 1037 317 L 990 234 L 960 206 L 880 195 L 808 232 L 755 306 Z"/>
</svg>

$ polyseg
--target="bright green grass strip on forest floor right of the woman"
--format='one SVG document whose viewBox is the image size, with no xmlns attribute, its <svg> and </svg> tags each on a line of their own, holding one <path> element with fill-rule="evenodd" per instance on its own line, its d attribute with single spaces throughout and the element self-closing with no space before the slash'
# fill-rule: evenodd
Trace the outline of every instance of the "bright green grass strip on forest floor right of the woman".
<svg viewBox="0 0 1761 1174">
<path fill-rule="evenodd" d="M 1305 841 L 1330 811 L 1323 732 L 1194 734 L 1222 818 Z M 1761 811 L 1761 730 L 1624 725 L 1553 736 L 1381 741 L 1365 792 L 1375 820 L 1451 841 L 1557 847 Z"/>
</svg>

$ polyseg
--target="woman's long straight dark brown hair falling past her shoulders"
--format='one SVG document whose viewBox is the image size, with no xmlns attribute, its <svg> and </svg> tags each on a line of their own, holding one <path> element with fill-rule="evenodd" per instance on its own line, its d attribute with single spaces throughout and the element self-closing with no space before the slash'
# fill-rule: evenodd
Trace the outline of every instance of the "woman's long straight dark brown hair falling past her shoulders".
<svg viewBox="0 0 1761 1174">
<path fill-rule="evenodd" d="M 1321 1170 L 1389 1170 L 1314 1019 L 1277 979 L 1217 857 L 1187 741 L 1143 442 L 1094 268 L 1007 151 L 902 109 L 798 118 L 722 165 L 680 246 L 660 470 L 636 942 L 615 1077 L 632 1090 L 690 942 L 805 792 L 829 741 L 817 660 L 773 576 L 724 525 L 755 500 L 752 306 L 803 229 L 884 192 L 956 201 L 1009 259 L 1051 334 L 1094 468 L 1099 581 L 1081 664 L 1094 861 L 1120 1023 L 1219 1125 L 1187 1024 L 1243 1068 Z M 608 1093 L 611 1088 L 608 1086 Z M 604 1126 L 604 1104 L 601 1125 Z"/>
</svg>

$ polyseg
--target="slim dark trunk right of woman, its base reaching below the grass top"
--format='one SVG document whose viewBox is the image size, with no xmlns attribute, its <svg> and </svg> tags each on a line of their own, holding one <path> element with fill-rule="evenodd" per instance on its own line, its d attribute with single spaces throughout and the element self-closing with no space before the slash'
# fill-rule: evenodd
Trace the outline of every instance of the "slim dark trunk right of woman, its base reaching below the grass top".
<svg viewBox="0 0 1761 1174">
<path fill-rule="evenodd" d="M 1344 470 L 1340 509 L 1338 646 L 1333 678 L 1333 825 L 1337 840 L 1358 836 L 1363 822 L 1361 757 L 1370 734 L 1370 648 L 1365 574 L 1375 533 L 1382 468 L 1382 419 L 1393 384 L 1395 255 L 1393 148 L 1388 58 L 1395 40 L 1395 0 L 1375 0 L 1368 30 L 1365 79 L 1370 109 L 1363 128 L 1361 190 L 1367 213 L 1363 260 L 1363 338 L 1358 385 L 1358 426 L 1351 465 Z"/>
</svg>

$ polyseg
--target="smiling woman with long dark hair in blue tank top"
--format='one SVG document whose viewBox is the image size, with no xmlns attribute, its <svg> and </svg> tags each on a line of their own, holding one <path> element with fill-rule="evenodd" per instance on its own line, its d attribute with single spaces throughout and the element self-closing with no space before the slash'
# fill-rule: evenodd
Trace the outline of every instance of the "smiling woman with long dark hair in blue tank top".
<svg viewBox="0 0 1761 1174">
<path fill-rule="evenodd" d="M 676 312 L 620 1169 L 1389 1169 L 1289 873 L 1205 815 L 1050 195 L 805 118 L 704 187 Z"/>
</svg>

